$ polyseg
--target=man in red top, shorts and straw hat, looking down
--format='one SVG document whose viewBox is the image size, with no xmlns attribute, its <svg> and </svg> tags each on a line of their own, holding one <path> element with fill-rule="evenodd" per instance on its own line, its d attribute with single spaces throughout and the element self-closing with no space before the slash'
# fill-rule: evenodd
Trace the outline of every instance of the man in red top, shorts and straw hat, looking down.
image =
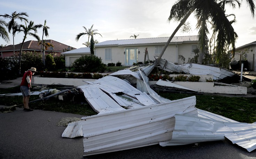
<svg viewBox="0 0 256 159">
<path fill-rule="evenodd" d="M 23 96 L 23 105 L 24 105 L 24 111 L 33 111 L 33 109 L 29 108 L 29 97 L 30 97 L 30 88 L 31 86 L 31 78 L 34 73 L 37 72 L 37 69 L 34 67 L 31 67 L 28 71 L 26 71 L 23 75 L 22 81 L 21 81 L 21 93 Z"/>
</svg>

